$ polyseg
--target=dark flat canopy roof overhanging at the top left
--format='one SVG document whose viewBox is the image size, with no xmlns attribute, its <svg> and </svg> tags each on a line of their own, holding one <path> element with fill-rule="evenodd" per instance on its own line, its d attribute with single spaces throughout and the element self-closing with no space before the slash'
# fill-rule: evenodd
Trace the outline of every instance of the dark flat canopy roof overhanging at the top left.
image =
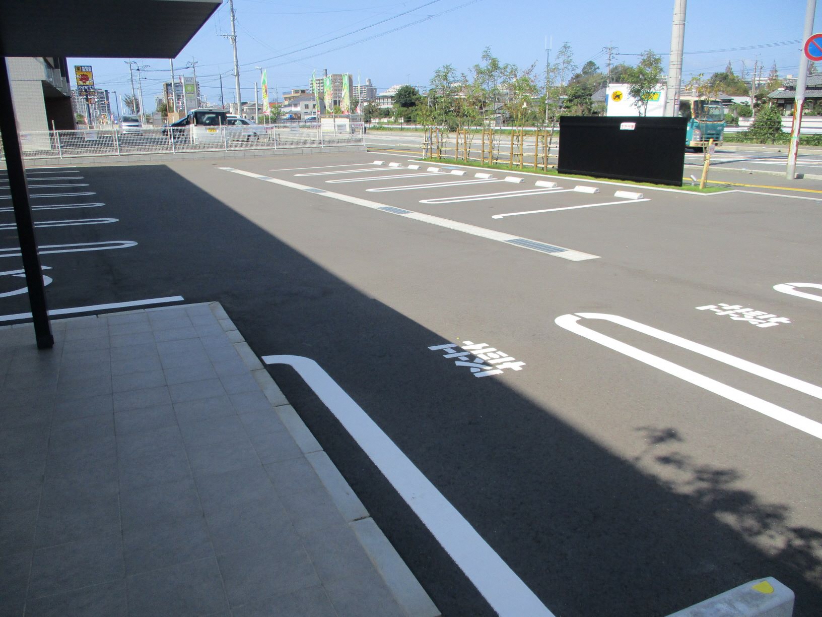
<svg viewBox="0 0 822 617">
<path fill-rule="evenodd" d="M 0 56 L 176 58 L 219 0 L 2 0 Z"/>
</svg>

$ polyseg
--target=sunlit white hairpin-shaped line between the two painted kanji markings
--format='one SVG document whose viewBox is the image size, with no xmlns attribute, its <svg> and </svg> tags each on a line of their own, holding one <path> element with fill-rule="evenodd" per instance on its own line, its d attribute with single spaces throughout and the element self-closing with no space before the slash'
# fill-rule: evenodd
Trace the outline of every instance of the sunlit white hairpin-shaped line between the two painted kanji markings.
<svg viewBox="0 0 822 617">
<path fill-rule="evenodd" d="M 639 350 L 634 346 L 623 343 L 622 341 L 617 341 L 617 339 L 614 339 L 611 336 L 606 336 L 600 332 L 593 331 L 588 327 L 580 325 L 580 323 L 578 323 L 580 318 L 604 319 L 609 322 L 617 323 L 621 326 L 628 327 L 631 330 L 635 330 L 636 332 L 642 332 L 643 334 L 658 338 L 660 341 L 672 343 L 673 345 L 680 346 L 683 349 L 694 351 L 695 353 L 712 358 L 713 360 L 718 360 L 724 364 L 729 364 L 737 369 L 747 371 L 748 373 L 753 373 L 775 383 L 780 383 L 783 386 L 791 387 L 799 392 L 810 394 L 812 397 L 822 398 L 822 388 L 819 386 L 815 386 L 812 383 L 803 382 L 800 379 L 789 377 L 788 375 L 778 373 L 771 369 L 766 369 L 764 366 L 760 366 L 759 364 L 754 364 L 752 362 L 748 362 L 747 360 L 741 360 L 736 356 L 725 354 L 722 351 L 700 345 L 694 341 L 688 341 L 687 339 L 681 338 L 681 336 L 675 336 L 673 334 L 669 334 L 668 332 L 663 332 L 662 330 L 657 330 L 656 328 L 646 326 L 643 323 L 635 322 L 617 315 L 607 315 L 603 313 L 576 313 L 560 315 L 554 320 L 557 326 L 563 327 L 569 332 L 574 332 L 575 334 L 584 336 L 589 339 L 589 341 L 594 341 L 595 343 L 599 343 L 609 349 L 618 351 L 623 355 L 633 358 L 634 360 L 640 360 L 640 362 L 643 362 L 644 364 L 653 366 L 654 369 L 659 369 L 664 373 L 668 373 L 674 377 L 683 379 L 688 383 L 693 383 L 695 386 L 699 386 L 709 392 L 718 394 L 720 397 L 727 398 L 728 401 L 737 402 L 742 406 L 752 409 L 753 411 L 758 411 L 762 415 L 767 415 L 769 418 L 773 418 L 783 424 L 792 426 L 794 429 L 799 429 L 804 433 L 814 436 L 815 438 L 822 439 L 822 424 L 819 422 L 810 420 L 810 418 L 806 418 L 804 415 L 799 415 L 794 411 L 789 411 L 783 407 L 769 403 L 768 401 L 764 401 L 763 399 L 755 397 L 752 394 L 748 394 L 747 392 L 737 390 L 735 387 L 727 386 L 726 384 L 718 382 L 715 379 L 705 377 L 704 375 L 696 373 L 690 369 L 686 369 L 679 364 L 674 364 L 668 360 L 663 360 L 663 358 L 660 358 L 657 355 L 649 354 L 647 351 Z"/>
</svg>

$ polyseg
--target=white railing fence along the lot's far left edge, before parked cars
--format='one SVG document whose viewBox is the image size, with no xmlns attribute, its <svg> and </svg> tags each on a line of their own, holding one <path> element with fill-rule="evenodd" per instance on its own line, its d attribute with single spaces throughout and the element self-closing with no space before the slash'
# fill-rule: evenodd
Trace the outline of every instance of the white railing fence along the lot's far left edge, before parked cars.
<svg viewBox="0 0 822 617">
<path fill-rule="evenodd" d="M 20 133 L 26 159 L 76 156 L 145 155 L 198 151 L 236 151 L 330 146 L 363 146 L 362 123 L 347 130 L 319 123 L 254 124 L 218 127 L 90 128 Z M 0 159 L 2 159 L 0 146 Z"/>
</svg>

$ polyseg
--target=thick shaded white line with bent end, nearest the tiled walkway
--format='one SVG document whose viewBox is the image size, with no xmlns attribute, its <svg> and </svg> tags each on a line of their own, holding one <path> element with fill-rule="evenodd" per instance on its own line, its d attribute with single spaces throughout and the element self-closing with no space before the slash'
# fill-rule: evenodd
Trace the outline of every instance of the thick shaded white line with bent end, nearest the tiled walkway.
<svg viewBox="0 0 822 617">
<path fill-rule="evenodd" d="M 553 617 L 463 515 L 319 364 L 300 355 L 265 355 L 262 361 L 288 364 L 299 373 L 498 615 Z"/>
</svg>

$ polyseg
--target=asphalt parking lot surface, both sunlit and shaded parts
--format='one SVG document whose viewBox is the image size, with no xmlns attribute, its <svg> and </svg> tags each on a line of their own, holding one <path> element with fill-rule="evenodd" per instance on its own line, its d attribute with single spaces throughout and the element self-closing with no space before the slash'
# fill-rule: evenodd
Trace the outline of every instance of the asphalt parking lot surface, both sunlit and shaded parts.
<svg viewBox="0 0 822 617">
<path fill-rule="evenodd" d="M 76 183 L 32 188 L 71 208 L 40 225 L 88 223 L 41 226 L 40 244 L 94 248 L 43 255 L 49 306 L 219 300 L 257 355 L 315 360 L 554 615 L 667 615 L 768 575 L 818 615 L 815 195 L 630 199 L 410 159 L 38 176 Z M 0 313 L 24 312 L 6 295 L 20 280 L 0 280 Z M 443 615 L 493 615 L 368 444 L 293 369 L 270 371 Z"/>
</svg>

